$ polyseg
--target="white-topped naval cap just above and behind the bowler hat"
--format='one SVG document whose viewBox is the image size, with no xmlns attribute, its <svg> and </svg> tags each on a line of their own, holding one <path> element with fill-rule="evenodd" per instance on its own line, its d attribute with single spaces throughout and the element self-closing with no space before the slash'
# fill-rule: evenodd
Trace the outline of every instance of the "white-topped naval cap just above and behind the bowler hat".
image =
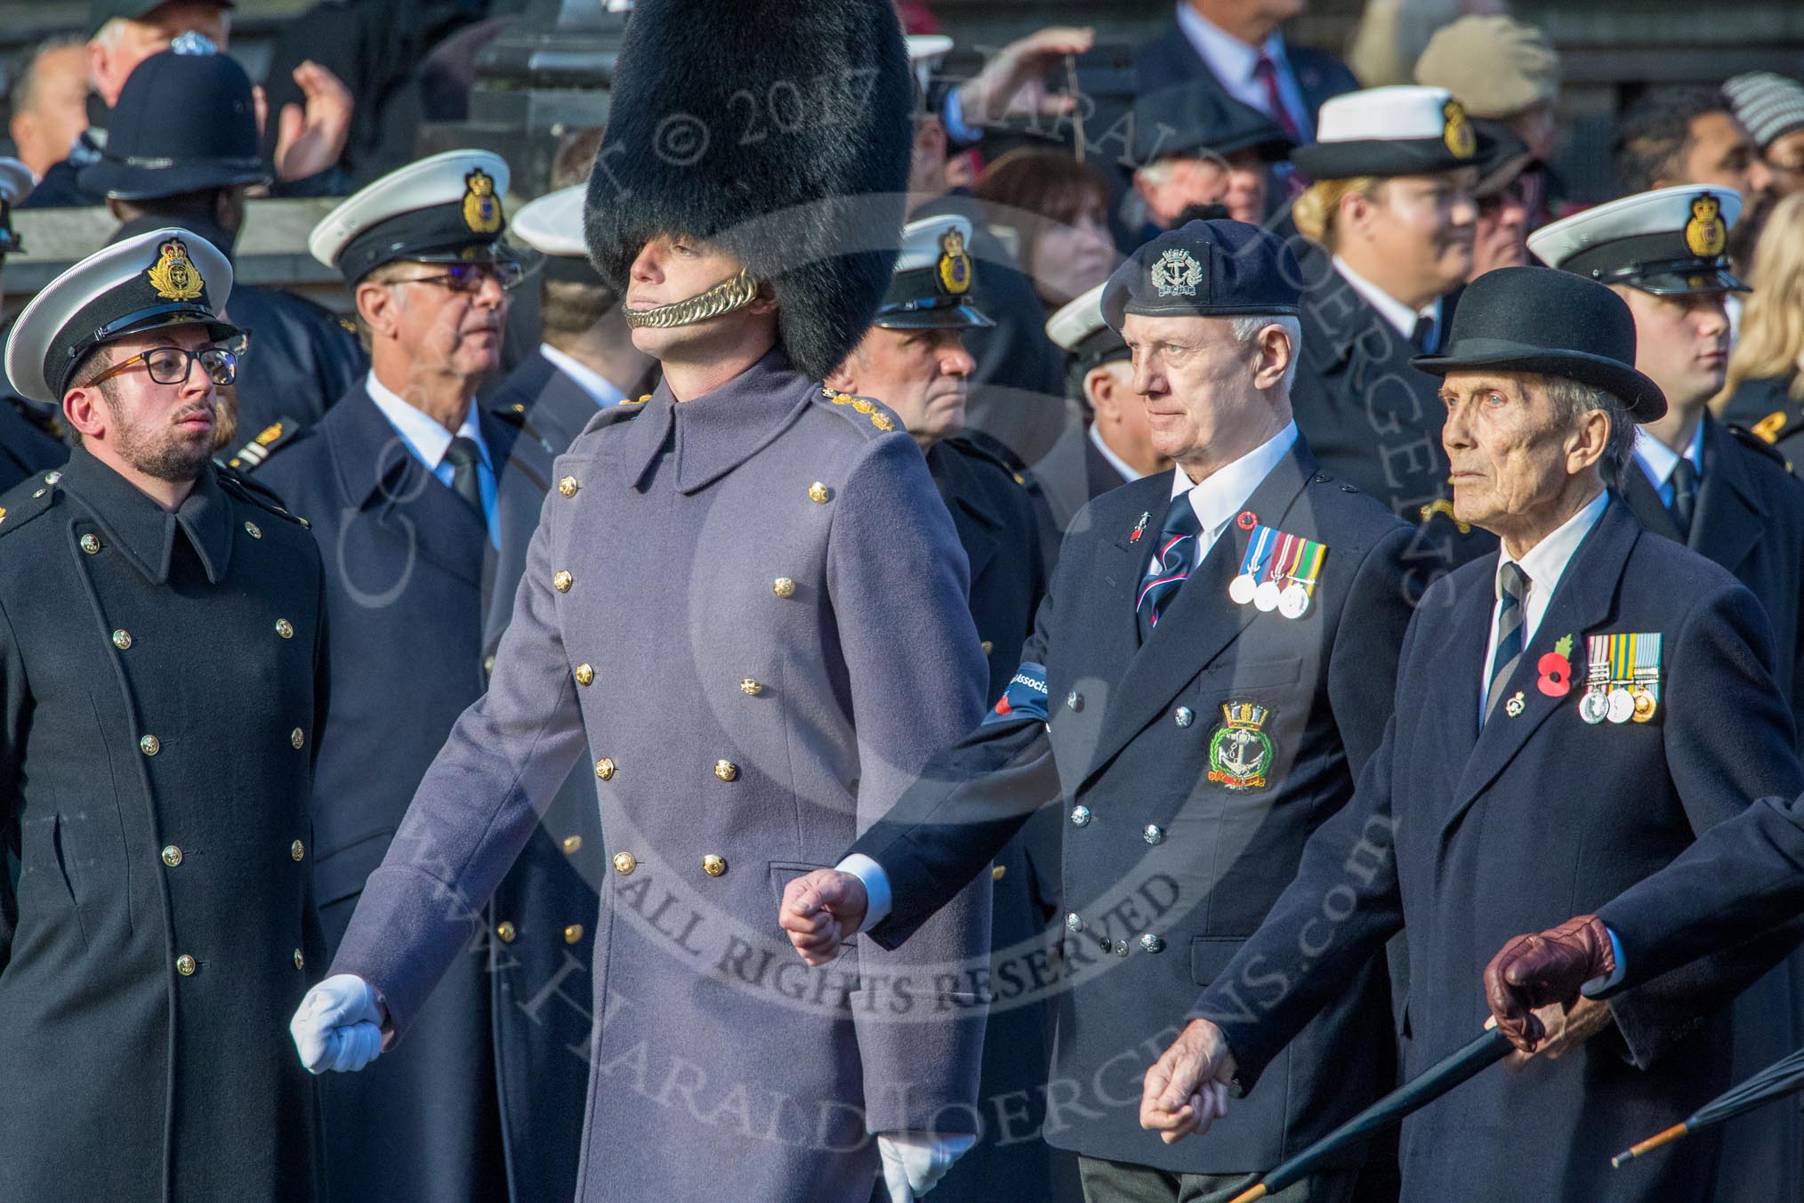
<svg viewBox="0 0 1804 1203">
<path fill-rule="evenodd" d="M 1725 256 L 1739 216 L 1735 189 L 1680 184 L 1542 225 L 1528 236 L 1528 249 L 1548 267 L 1660 296 L 1746 292 Z"/>
</svg>

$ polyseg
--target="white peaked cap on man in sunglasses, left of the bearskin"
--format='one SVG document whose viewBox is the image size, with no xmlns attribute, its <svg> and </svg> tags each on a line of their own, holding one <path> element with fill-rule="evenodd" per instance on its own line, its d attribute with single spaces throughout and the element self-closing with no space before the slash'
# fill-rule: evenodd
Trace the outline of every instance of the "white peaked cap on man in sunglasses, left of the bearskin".
<svg viewBox="0 0 1804 1203">
<path fill-rule="evenodd" d="M 314 225 L 307 249 L 355 283 L 382 263 L 509 258 L 502 197 L 507 162 L 487 150 L 447 150 L 395 168 Z"/>
</svg>

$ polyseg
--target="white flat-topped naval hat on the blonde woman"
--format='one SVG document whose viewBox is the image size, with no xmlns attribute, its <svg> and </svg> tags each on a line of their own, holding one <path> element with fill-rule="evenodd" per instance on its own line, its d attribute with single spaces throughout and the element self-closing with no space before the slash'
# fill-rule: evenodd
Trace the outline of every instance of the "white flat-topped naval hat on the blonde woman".
<svg viewBox="0 0 1804 1203">
<path fill-rule="evenodd" d="M 1315 142 L 1290 161 L 1317 180 L 1436 175 L 1474 166 L 1479 139 L 1452 92 L 1400 83 L 1324 101 Z"/>
</svg>

